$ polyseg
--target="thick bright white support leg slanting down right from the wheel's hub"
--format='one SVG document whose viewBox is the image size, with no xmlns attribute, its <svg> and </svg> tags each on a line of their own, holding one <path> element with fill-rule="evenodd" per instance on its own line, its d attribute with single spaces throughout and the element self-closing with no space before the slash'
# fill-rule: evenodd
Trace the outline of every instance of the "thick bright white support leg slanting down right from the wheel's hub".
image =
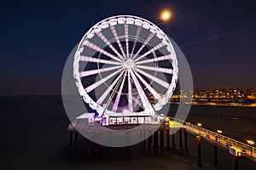
<svg viewBox="0 0 256 170">
<path fill-rule="evenodd" d="M 148 111 L 151 114 L 151 116 L 154 116 L 155 115 L 154 108 L 151 105 L 151 103 L 149 102 L 148 97 L 144 93 L 144 90 L 143 90 L 142 86 L 140 85 L 140 82 L 138 82 L 137 77 L 135 76 L 133 71 L 130 70 L 130 73 L 131 73 L 131 77 L 135 83 L 135 86 L 137 88 L 137 92 L 140 95 L 140 98 L 142 99 L 142 103 L 143 103 L 143 107 L 145 108 L 145 111 Z"/>
</svg>

